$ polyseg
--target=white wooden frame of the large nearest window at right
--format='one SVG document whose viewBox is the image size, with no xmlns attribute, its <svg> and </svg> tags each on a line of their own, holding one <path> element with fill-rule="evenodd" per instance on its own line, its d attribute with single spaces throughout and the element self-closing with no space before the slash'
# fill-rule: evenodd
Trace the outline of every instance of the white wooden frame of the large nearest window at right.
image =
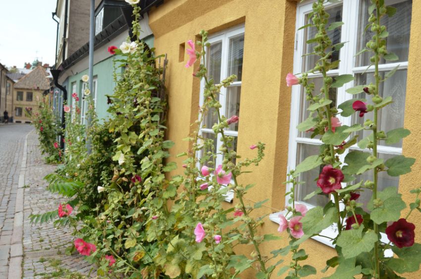
<svg viewBox="0 0 421 279">
<path fill-rule="evenodd" d="M 296 29 L 300 28 L 301 26 L 304 26 L 307 24 L 305 22 L 306 15 L 312 11 L 312 4 L 316 0 L 306 0 L 302 3 L 297 4 L 297 16 L 296 16 Z M 391 0 L 393 3 L 402 2 L 405 0 Z M 391 4 L 391 3 L 387 3 Z M 325 3 L 326 7 L 333 7 L 337 5 L 342 5 L 342 21 L 344 22 L 344 25 L 341 27 L 341 42 L 348 42 L 344 45 L 344 47 L 340 51 L 339 60 L 340 66 L 338 69 L 333 69 L 327 72 L 329 76 L 337 76 L 342 74 L 348 74 L 352 73 L 358 74 L 358 73 L 372 73 L 374 72 L 374 66 L 371 66 L 367 69 L 368 66 L 356 66 L 357 58 L 355 54 L 360 51 L 359 48 L 359 40 L 361 39 L 361 34 L 359 34 L 359 26 L 355 26 L 355 19 L 358 19 L 358 24 L 360 23 L 360 9 L 362 5 L 362 0 L 340 0 L 340 3 Z M 305 53 L 305 32 L 306 29 L 298 30 L 296 31 L 296 40 L 295 40 L 295 47 L 294 47 L 294 73 L 302 72 L 304 59 L 302 55 Z M 397 65 L 399 65 L 398 69 L 408 69 L 408 61 L 404 62 L 398 62 L 398 63 L 388 63 L 388 64 L 381 64 L 379 65 L 380 71 L 388 71 L 393 68 L 395 68 Z M 314 77 L 321 77 L 321 73 L 309 73 L 308 77 L 314 78 Z M 344 103 L 347 100 L 351 100 L 353 96 L 351 94 L 347 94 L 345 91 L 349 88 L 354 87 L 354 82 L 346 83 L 343 87 L 337 88 L 337 97 L 336 97 L 336 103 L 337 105 L 340 105 Z M 299 131 L 297 130 L 297 125 L 300 123 L 300 117 L 301 117 L 301 98 L 302 96 L 302 87 L 300 86 L 292 86 L 291 89 L 291 117 L 290 117 L 290 131 L 289 131 L 289 143 L 288 143 L 288 167 L 287 167 L 287 173 L 291 169 L 295 169 L 296 167 L 296 160 L 297 160 L 297 146 L 299 143 L 303 144 L 313 144 L 313 145 L 321 145 L 321 141 L 318 139 L 310 139 L 310 138 L 303 138 L 299 137 Z M 352 125 L 352 117 L 342 117 L 340 114 L 337 115 L 339 120 L 343 123 L 343 125 Z M 354 145 L 350 148 L 351 150 L 359 150 L 359 151 L 367 151 L 371 152 L 368 149 L 360 149 L 357 145 Z M 402 154 L 402 148 L 396 148 L 396 147 L 388 147 L 388 146 L 378 146 L 377 152 L 383 153 L 383 154 L 390 154 L 390 155 L 401 155 Z M 339 158 L 341 162 L 344 161 L 345 156 L 348 154 L 348 150 L 344 152 L 344 154 L 339 155 Z M 342 187 L 345 187 L 346 183 L 342 183 Z M 292 184 L 288 183 L 286 185 L 286 191 L 290 191 L 292 188 Z M 286 206 L 292 206 L 292 204 L 289 203 L 289 196 L 286 196 L 285 198 L 285 205 Z M 333 197 L 331 196 L 331 200 L 333 201 Z M 295 201 L 295 204 L 304 204 L 307 206 L 308 209 L 314 208 L 313 205 L 310 205 L 308 203 L 302 202 L 302 201 Z M 343 209 L 344 205 L 341 204 L 341 210 Z M 275 223 L 279 223 L 280 219 L 278 217 L 279 214 L 286 214 L 286 210 L 273 213 L 269 216 L 269 219 Z M 336 224 L 332 224 L 330 227 L 324 229 L 320 234 L 326 235 L 328 237 L 334 238 L 337 235 L 337 226 Z M 313 239 L 324 243 L 330 247 L 334 247 L 332 244 L 332 241 L 328 238 L 321 237 L 321 236 L 314 236 Z M 383 242 L 388 242 L 387 236 L 382 233 L 381 240 Z M 391 251 L 388 251 L 388 254 L 391 253 Z"/>
</svg>

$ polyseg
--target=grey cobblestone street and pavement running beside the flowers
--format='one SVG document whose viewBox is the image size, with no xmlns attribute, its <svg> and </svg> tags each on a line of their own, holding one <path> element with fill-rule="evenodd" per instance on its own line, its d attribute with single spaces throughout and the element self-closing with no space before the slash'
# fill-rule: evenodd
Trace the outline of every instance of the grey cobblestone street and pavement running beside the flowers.
<svg viewBox="0 0 421 279">
<path fill-rule="evenodd" d="M 56 166 L 44 163 L 33 127 L 1 125 L 0 158 L 0 278 L 95 277 L 83 256 L 64 254 L 71 230 L 30 223 L 31 214 L 55 210 L 63 201 L 46 189 L 43 177 Z"/>
</svg>

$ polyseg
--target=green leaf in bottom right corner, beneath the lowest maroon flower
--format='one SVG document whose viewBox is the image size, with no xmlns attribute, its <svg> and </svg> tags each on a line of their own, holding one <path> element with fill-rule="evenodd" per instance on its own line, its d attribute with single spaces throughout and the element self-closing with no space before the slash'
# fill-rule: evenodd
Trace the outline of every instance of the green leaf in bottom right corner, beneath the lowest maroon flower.
<svg viewBox="0 0 421 279">
<path fill-rule="evenodd" d="M 421 244 L 414 243 L 411 247 L 398 248 L 392 246 L 392 251 L 399 258 L 390 259 L 387 266 L 397 273 L 415 272 L 420 269 Z"/>
</svg>

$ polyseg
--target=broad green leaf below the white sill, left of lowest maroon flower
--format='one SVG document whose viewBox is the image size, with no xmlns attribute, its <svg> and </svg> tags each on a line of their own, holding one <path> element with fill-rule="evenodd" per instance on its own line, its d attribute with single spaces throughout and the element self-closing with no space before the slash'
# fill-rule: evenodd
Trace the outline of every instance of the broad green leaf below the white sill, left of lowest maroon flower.
<svg viewBox="0 0 421 279">
<path fill-rule="evenodd" d="M 377 235 L 372 230 L 368 230 L 363 235 L 363 228 L 364 225 L 361 225 L 358 229 L 344 230 L 339 235 L 336 244 L 342 247 L 342 254 L 345 259 L 356 257 L 374 248 Z"/>
</svg>

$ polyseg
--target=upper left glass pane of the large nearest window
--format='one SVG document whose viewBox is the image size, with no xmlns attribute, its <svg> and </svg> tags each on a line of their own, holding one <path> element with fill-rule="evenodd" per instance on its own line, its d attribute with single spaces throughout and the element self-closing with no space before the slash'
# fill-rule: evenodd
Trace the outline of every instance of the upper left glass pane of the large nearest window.
<svg viewBox="0 0 421 279">
<path fill-rule="evenodd" d="M 329 26 L 332 22 L 342 21 L 342 5 L 337 5 L 331 8 L 327 8 L 326 12 L 329 13 L 329 20 L 326 26 Z M 306 24 L 307 23 L 313 23 L 311 22 L 311 18 L 309 18 L 308 16 L 306 16 Z M 306 42 L 315 37 L 315 35 L 317 34 L 317 29 L 316 27 L 306 28 L 304 32 L 305 32 L 304 42 L 303 42 L 304 50 L 305 50 L 305 54 L 309 54 L 313 52 L 313 49 L 317 44 L 313 43 L 309 45 L 309 44 L 306 44 Z M 333 45 L 341 42 L 341 28 L 336 28 L 332 31 L 328 31 L 327 35 L 329 36 Z M 329 50 L 326 50 L 326 52 L 328 51 Z M 314 56 L 314 55 L 304 56 L 303 71 L 308 71 L 310 69 L 313 69 L 318 59 L 319 57 Z M 332 58 L 330 59 L 331 62 L 336 61 L 336 60 L 339 60 L 339 51 L 334 51 L 332 54 Z"/>
</svg>

